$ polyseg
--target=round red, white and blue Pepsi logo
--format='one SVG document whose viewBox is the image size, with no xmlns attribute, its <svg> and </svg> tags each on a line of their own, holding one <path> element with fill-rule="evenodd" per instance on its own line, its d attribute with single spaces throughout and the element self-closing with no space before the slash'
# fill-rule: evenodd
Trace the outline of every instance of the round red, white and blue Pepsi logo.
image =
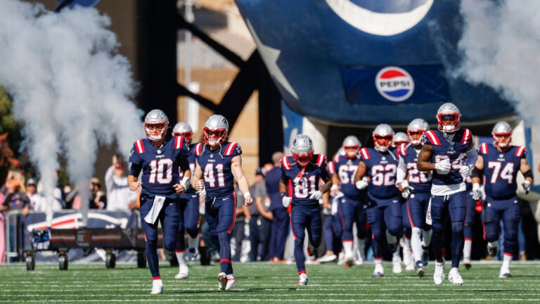
<svg viewBox="0 0 540 304">
<path fill-rule="evenodd" d="M 375 87 L 389 101 L 404 101 L 413 94 L 414 80 L 406 70 L 389 66 L 377 73 Z"/>
</svg>

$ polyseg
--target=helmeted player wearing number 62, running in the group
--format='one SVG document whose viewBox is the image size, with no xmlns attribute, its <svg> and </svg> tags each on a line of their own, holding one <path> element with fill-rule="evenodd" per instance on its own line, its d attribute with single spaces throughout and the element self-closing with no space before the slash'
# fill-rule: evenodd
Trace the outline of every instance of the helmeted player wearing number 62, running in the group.
<svg viewBox="0 0 540 304">
<path fill-rule="evenodd" d="M 383 237 L 386 235 L 390 252 L 398 250 L 397 240 L 403 232 L 401 225 L 401 196 L 395 186 L 398 160 L 390 151 L 394 130 L 380 124 L 373 130 L 374 148 L 361 148 L 361 160 L 354 175 L 359 190 L 368 189 L 367 220 L 373 234 L 373 277 L 383 277 Z M 401 258 L 392 258 L 392 272 L 401 272 Z"/>
</svg>

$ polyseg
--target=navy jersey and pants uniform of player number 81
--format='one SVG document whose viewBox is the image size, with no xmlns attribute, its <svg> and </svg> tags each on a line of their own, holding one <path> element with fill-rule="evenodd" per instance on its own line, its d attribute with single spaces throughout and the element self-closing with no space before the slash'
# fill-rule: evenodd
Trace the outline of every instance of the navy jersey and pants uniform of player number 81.
<svg viewBox="0 0 540 304">
<path fill-rule="evenodd" d="M 290 203 L 290 227 L 295 239 L 295 260 L 298 274 L 306 272 L 304 239 L 307 229 L 309 243 L 315 248 L 321 245 L 322 220 L 319 201 L 309 198 L 319 190 L 319 182 L 330 178 L 326 170 L 326 156 L 314 154 L 311 162 L 300 167 L 292 156 L 281 159 L 281 180 L 288 185 Z"/>
</svg>

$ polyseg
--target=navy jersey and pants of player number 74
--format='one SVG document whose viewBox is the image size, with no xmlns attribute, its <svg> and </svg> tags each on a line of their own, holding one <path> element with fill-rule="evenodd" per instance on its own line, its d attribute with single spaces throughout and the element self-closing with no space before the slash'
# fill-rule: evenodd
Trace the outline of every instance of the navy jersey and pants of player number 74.
<svg viewBox="0 0 540 304">
<path fill-rule="evenodd" d="M 514 255 L 518 248 L 518 224 L 520 205 L 515 194 L 518 183 L 515 181 L 520 170 L 522 158 L 527 158 L 527 151 L 522 146 L 510 146 L 507 151 L 499 152 L 495 146 L 486 143 L 480 145 L 480 156 L 484 163 L 484 191 L 486 201 L 482 222 L 484 239 L 499 239 L 499 222 L 503 220 L 504 254 Z"/>
</svg>

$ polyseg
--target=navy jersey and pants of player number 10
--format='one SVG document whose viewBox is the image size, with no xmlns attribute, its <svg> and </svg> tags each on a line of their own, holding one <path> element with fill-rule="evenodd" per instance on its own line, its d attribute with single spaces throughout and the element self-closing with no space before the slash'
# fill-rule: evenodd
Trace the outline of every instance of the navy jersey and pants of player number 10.
<svg viewBox="0 0 540 304">
<path fill-rule="evenodd" d="M 139 139 L 131 147 L 129 156 L 129 175 L 139 179 L 141 184 L 141 225 L 146 239 L 146 255 L 148 267 L 154 279 L 160 277 L 158 255 L 158 220 L 163 230 L 163 247 L 174 250 L 176 234 L 179 228 L 178 194 L 173 188 L 179 184 L 179 166 L 187 163 L 190 156 L 189 146 L 183 137 L 169 137 L 160 147 L 155 147 L 149 139 Z M 152 208 L 155 196 L 165 196 L 165 203 L 158 220 L 149 224 L 144 220 Z"/>
</svg>

